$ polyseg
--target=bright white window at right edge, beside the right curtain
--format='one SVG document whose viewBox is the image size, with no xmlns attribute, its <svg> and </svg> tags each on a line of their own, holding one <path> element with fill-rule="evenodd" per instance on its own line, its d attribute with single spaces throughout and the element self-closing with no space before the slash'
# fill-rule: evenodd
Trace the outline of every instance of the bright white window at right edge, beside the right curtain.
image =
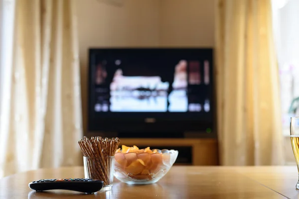
<svg viewBox="0 0 299 199">
<path fill-rule="evenodd" d="M 273 32 L 279 64 L 285 157 L 295 164 L 290 117 L 299 116 L 299 0 L 272 0 Z"/>
</svg>

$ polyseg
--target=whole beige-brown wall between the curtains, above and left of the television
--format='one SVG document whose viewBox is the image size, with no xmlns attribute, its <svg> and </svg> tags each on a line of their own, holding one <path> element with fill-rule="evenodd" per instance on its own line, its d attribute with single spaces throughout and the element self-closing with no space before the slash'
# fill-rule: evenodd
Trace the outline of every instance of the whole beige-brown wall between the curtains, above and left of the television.
<svg viewBox="0 0 299 199">
<path fill-rule="evenodd" d="M 214 46 L 214 0 L 114 1 L 77 0 L 84 129 L 88 48 Z"/>
</svg>

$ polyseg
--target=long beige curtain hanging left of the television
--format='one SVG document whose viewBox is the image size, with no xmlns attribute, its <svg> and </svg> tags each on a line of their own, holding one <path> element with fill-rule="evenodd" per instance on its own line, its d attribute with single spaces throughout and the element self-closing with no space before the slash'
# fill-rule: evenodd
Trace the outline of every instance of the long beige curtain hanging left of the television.
<svg viewBox="0 0 299 199">
<path fill-rule="evenodd" d="M 82 162 L 75 2 L 15 0 L 14 42 L 2 66 L 0 177 Z"/>
</svg>

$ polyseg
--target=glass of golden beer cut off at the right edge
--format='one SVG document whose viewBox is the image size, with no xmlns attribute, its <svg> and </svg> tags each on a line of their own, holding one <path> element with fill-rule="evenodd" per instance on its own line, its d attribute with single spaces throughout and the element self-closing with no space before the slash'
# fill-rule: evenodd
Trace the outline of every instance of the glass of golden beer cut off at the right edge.
<svg viewBox="0 0 299 199">
<path fill-rule="evenodd" d="M 299 117 L 291 117 L 291 143 L 297 164 L 298 176 L 299 176 Z M 296 184 L 296 189 L 299 190 L 299 180 Z"/>
</svg>

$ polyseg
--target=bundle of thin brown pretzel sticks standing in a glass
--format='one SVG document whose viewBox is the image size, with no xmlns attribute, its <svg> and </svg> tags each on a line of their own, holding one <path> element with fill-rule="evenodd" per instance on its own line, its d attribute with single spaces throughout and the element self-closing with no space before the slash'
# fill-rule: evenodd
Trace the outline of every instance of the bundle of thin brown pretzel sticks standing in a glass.
<svg viewBox="0 0 299 199">
<path fill-rule="evenodd" d="M 83 156 L 88 157 L 84 164 L 86 164 L 89 178 L 102 180 L 104 186 L 111 185 L 114 172 L 111 171 L 114 168 L 112 157 L 115 155 L 120 139 L 102 137 L 88 139 L 84 136 L 78 143 Z"/>
</svg>

